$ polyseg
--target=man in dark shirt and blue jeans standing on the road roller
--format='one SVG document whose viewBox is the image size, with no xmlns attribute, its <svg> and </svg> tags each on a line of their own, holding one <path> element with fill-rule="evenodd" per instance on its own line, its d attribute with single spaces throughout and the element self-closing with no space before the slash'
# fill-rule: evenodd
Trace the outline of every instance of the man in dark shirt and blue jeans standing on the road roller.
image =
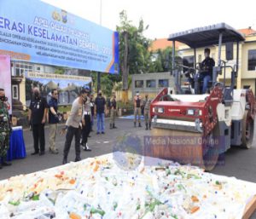
<svg viewBox="0 0 256 219">
<path fill-rule="evenodd" d="M 211 50 L 205 49 L 205 60 L 201 63 L 201 73 L 199 81 L 203 82 L 202 94 L 207 92 L 208 82 L 212 80 L 212 68 L 215 66 L 215 61 L 210 57 Z"/>
</svg>

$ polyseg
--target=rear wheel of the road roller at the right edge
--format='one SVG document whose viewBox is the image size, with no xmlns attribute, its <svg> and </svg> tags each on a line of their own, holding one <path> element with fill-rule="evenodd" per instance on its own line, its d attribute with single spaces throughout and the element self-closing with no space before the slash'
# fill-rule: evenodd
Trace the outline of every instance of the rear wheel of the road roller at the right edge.
<svg viewBox="0 0 256 219">
<path fill-rule="evenodd" d="M 242 119 L 241 146 L 249 149 L 253 144 L 254 121 L 248 117 L 248 110 L 243 114 Z"/>
</svg>

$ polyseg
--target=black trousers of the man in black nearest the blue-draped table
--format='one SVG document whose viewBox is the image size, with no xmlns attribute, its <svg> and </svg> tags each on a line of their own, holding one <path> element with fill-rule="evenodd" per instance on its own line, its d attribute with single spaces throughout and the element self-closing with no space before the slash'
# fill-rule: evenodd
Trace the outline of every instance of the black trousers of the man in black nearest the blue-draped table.
<svg viewBox="0 0 256 219">
<path fill-rule="evenodd" d="M 44 152 L 45 139 L 44 139 L 44 124 L 32 124 L 32 133 L 34 139 L 35 152 L 39 152 L 38 141 L 40 141 L 40 151 Z"/>
</svg>

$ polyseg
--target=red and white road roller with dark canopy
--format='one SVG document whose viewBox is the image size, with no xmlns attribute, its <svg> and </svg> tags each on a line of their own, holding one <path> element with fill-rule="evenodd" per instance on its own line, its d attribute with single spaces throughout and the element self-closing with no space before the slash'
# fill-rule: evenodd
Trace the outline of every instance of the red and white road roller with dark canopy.
<svg viewBox="0 0 256 219">
<path fill-rule="evenodd" d="M 250 148 L 253 144 L 254 95 L 251 89 L 235 89 L 239 44 L 245 39 L 234 28 L 220 23 L 171 34 L 168 40 L 172 41 L 171 74 L 175 87 L 162 89 L 150 105 L 151 136 L 161 136 L 165 141 L 157 141 L 145 153 L 212 170 L 231 145 Z M 194 49 L 194 67 L 177 63 L 176 41 Z M 226 60 L 223 61 L 224 45 Z M 198 76 L 202 70 L 201 63 L 196 62 L 196 51 L 210 46 L 218 46 L 218 61 L 212 69 L 208 94 L 201 94 L 202 82 Z M 184 72 L 193 78 L 189 87 L 181 84 Z M 230 83 L 226 80 L 227 72 L 231 74 Z M 221 74 L 224 79 L 218 82 Z"/>
</svg>

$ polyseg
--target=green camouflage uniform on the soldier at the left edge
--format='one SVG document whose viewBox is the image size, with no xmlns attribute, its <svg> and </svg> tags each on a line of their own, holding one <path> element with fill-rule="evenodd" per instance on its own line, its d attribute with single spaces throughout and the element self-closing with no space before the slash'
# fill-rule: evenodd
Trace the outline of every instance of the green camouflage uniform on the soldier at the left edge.
<svg viewBox="0 0 256 219">
<path fill-rule="evenodd" d="M 8 108 L 5 102 L 0 101 L 0 158 L 4 158 L 7 155 L 10 134 L 11 125 Z"/>
</svg>

